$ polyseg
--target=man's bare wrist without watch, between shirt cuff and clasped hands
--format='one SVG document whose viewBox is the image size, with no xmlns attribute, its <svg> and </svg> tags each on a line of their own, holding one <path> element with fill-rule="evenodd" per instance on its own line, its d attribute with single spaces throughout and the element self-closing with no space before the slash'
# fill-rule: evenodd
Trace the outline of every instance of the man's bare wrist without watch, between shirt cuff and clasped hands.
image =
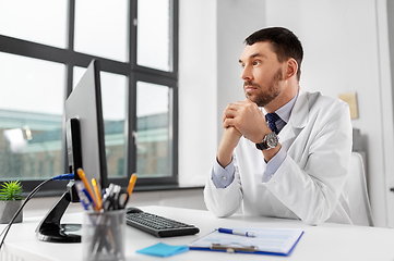
<svg viewBox="0 0 394 261">
<path fill-rule="evenodd" d="M 237 147 L 242 134 L 235 127 L 227 127 L 222 137 L 219 148 L 217 150 L 217 162 L 220 166 L 226 167 L 232 160 L 234 149 Z"/>
</svg>

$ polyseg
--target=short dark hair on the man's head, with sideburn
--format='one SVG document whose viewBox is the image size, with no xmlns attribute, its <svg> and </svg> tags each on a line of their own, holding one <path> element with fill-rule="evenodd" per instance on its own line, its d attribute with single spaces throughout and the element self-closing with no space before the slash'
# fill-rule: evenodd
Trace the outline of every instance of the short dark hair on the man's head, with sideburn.
<svg viewBox="0 0 394 261">
<path fill-rule="evenodd" d="M 244 39 L 244 44 L 248 46 L 252 46 L 260 41 L 271 42 L 271 48 L 276 53 L 279 62 L 285 62 L 289 58 L 297 61 L 297 79 L 299 82 L 301 77 L 303 50 L 298 37 L 289 29 L 283 27 L 271 27 L 254 32 Z"/>
</svg>

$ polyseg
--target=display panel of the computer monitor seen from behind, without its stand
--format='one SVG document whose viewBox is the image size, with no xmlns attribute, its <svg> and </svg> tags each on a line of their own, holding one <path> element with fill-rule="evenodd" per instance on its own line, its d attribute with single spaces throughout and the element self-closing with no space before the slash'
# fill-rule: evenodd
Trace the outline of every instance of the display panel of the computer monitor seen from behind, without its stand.
<svg viewBox="0 0 394 261">
<path fill-rule="evenodd" d="M 93 60 L 65 101 L 65 133 L 70 172 L 82 167 L 87 181 L 108 186 L 99 62 Z"/>
</svg>

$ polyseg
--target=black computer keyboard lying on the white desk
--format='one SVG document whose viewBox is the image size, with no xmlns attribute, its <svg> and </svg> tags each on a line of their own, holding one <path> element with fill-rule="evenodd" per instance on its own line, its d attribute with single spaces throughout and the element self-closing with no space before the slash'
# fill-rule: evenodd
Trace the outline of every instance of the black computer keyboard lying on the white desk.
<svg viewBox="0 0 394 261">
<path fill-rule="evenodd" d="M 187 236 L 200 232 L 200 229 L 193 225 L 143 212 L 136 208 L 127 209 L 126 223 L 156 237 Z"/>
</svg>

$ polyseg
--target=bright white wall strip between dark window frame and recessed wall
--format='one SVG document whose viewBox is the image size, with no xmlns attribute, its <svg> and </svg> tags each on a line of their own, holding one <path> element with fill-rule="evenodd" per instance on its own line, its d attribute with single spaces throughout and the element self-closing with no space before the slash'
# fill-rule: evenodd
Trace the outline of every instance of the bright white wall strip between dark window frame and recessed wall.
<svg viewBox="0 0 394 261">
<path fill-rule="evenodd" d="M 179 1 L 179 183 L 204 185 L 216 140 L 216 1 Z"/>
</svg>

